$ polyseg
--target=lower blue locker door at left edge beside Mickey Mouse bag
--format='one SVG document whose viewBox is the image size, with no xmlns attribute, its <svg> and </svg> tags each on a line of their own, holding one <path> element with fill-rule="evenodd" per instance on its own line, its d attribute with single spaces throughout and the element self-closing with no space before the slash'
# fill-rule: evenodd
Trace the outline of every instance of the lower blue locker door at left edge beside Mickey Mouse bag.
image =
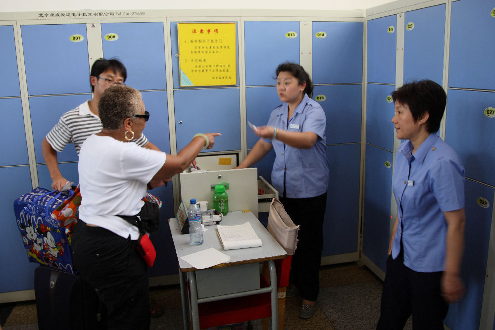
<svg viewBox="0 0 495 330">
<path fill-rule="evenodd" d="M 15 199 L 33 189 L 29 166 L 0 168 L 0 187 L 0 292 L 34 289 L 38 265 L 28 261 L 13 207 Z"/>
</svg>

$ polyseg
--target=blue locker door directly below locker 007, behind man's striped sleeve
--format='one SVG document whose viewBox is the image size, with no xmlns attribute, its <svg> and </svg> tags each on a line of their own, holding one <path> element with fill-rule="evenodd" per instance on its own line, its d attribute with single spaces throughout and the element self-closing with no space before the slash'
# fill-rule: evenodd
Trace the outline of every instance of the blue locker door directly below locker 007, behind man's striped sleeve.
<svg viewBox="0 0 495 330">
<path fill-rule="evenodd" d="M 87 77 L 87 79 L 89 78 Z M 34 150 L 38 164 L 45 162 L 41 150 L 41 142 L 51 128 L 58 123 L 60 116 L 76 108 L 88 99 L 91 99 L 91 95 L 59 95 L 29 98 Z M 74 145 L 67 145 L 62 152 L 59 152 L 57 161 L 77 161 L 77 153 Z"/>
</svg>

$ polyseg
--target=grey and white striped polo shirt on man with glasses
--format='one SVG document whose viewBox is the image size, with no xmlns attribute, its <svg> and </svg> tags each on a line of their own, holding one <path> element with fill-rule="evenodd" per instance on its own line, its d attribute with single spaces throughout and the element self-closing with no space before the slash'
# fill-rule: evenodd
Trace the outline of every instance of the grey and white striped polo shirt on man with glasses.
<svg viewBox="0 0 495 330">
<path fill-rule="evenodd" d="M 86 101 L 60 117 L 58 123 L 47 134 L 47 141 L 58 152 L 61 152 L 68 143 L 73 143 L 79 156 L 83 142 L 101 129 L 99 117 L 91 112 L 89 103 Z M 134 142 L 140 146 L 145 146 L 148 139 L 144 134 L 141 134 L 139 139 Z"/>
</svg>

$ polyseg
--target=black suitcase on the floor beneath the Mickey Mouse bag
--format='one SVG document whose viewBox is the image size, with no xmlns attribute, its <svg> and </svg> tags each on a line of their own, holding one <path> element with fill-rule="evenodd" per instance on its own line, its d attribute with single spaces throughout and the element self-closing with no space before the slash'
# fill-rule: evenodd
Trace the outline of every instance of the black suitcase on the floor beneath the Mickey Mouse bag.
<svg viewBox="0 0 495 330">
<path fill-rule="evenodd" d="M 40 330 L 108 328 L 104 305 L 81 276 L 39 266 L 34 281 Z"/>
</svg>

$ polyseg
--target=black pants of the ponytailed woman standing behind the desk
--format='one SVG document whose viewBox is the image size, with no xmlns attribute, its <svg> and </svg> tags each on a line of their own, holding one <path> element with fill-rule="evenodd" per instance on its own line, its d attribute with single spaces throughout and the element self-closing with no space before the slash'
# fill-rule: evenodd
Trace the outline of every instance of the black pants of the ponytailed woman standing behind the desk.
<svg viewBox="0 0 495 330">
<path fill-rule="evenodd" d="M 280 201 L 292 221 L 300 225 L 290 282 L 297 286 L 302 299 L 315 301 L 320 291 L 319 271 L 327 193 L 309 198 L 282 197 Z"/>
</svg>

